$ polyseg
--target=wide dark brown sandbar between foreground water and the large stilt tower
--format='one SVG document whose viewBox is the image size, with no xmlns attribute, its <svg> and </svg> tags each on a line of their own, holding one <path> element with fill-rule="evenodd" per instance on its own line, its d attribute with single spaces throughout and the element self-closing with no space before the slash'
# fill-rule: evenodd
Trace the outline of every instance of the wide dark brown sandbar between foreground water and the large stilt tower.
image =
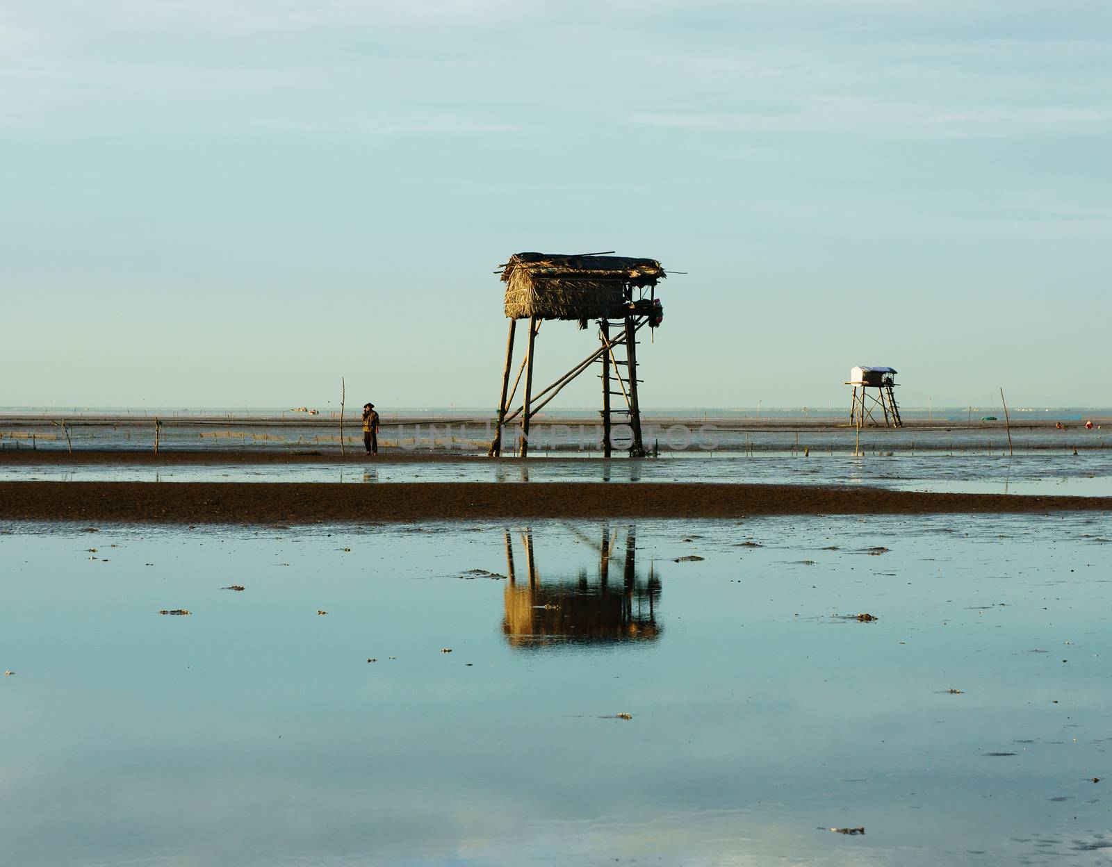
<svg viewBox="0 0 1112 867">
<path fill-rule="evenodd" d="M 1112 497 L 695 482 L 0 482 L 0 519 L 37 521 L 274 525 L 1051 511 L 1112 512 Z"/>
</svg>

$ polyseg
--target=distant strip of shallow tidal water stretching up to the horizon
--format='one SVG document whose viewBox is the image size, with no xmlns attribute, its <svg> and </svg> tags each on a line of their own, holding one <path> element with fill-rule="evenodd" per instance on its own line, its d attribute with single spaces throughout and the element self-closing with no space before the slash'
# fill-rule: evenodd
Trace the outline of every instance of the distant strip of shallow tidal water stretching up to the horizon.
<svg viewBox="0 0 1112 867">
<path fill-rule="evenodd" d="M 340 431 L 338 419 L 290 418 L 287 413 L 275 417 L 250 413 L 218 413 L 200 419 L 192 413 L 158 413 L 160 419 L 159 442 L 162 448 L 185 451 L 210 450 L 259 450 L 271 449 L 329 449 L 339 450 Z M 586 415 L 590 422 L 584 422 Z M 912 413 L 915 415 L 915 413 Z M 578 421 L 576 420 L 578 417 Z M 550 450 L 560 455 L 590 455 L 598 457 L 602 451 L 602 427 L 595 412 L 542 413 L 533 420 L 530 451 L 540 454 Z M 860 432 L 861 448 L 865 451 L 894 451 L 917 454 L 920 451 L 980 451 L 1006 454 L 1011 441 L 1015 451 L 1029 449 L 1037 451 L 1071 452 L 1074 448 L 1112 448 L 1109 439 L 1108 410 L 1079 413 L 1064 410 L 1055 415 L 1024 413 L 1013 419 L 1009 431 L 1005 422 L 976 421 L 976 416 L 960 412 L 946 420 L 934 417 L 925 427 L 921 415 L 919 423 L 903 428 L 866 427 Z M 1061 430 L 1048 422 L 1060 419 L 1065 427 Z M 1083 427 L 1082 419 L 1095 418 L 1091 430 Z M 0 448 L 40 448 L 62 450 L 71 442 L 82 449 L 146 449 L 155 444 L 155 417 L 138 412 L 113 419 L 80 419 L 70 416 L 64 428 L 60 415 L 49 417 L 0 417 Z M 790 423 L 796 422 L 795 425 Z M 752 451 L 784 451 L 810 448 L 813 452 L 852 454 L 857 450 L 858 435 L 841 413 L 822 413 L 816 418 L 808 413 L 776 415 L 774 418 L 738 416 L 726 411 L 707 413 L 685 412 L 678 416 L 643 413 L 644 442 L 654 445 L 662 454 L 686 456 L 703 450 L 747 454 Z M 907 417 L 912 421 L 912 416 Z M 804 422 L 800 426 L 797 422 Z M 485 413 L 455 416 L 455 413 L 418 413 L 395 417 L 387 412 L 383 418 L 380 445 L 384 449 L 403 452 L 485 455 L 493 438 L 494 419 Z M 508 426 L 503 436 L 503 454 L 516 454 L 519 427 Z M 620 451 L 628 446 L 632 432 L 625 426 L 614 429 L 615 448 Z M 357 418 L 348 417 L 344 441 L 347 448 L 363 447 L 363 435 Z"/>
</svg>

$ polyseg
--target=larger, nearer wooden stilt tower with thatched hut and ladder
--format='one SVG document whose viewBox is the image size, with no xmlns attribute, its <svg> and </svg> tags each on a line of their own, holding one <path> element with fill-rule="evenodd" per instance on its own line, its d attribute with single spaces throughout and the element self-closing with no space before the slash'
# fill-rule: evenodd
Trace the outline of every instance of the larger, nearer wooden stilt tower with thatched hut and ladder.
<svg viewBox="0 0 1112 867">
<path fill-rule="evenodd" d="M 628 425 L 632 431 L 629 456 L 644 457 L 637 402 L 637 332 L 646 325 L 656 328 L 664 318 L 664 308 L 656 298 L 656 283 L 666 277 L 661 263 L 655 259 L 629 259 L 607 253 L 565 256 L 520 252 L 499 267 L 502 280 L 506 283 L 509 337 L 506 341 L 506 366 L 502 373 L 497 428 L 488 455 L 502 456 L 503 428 L 520 418 L 518 455 L 527 457 L 533 416 L 544 409 L 564 386 L 600 362 L 603 454 L 610 457 L 610 431 L 614 423 L 618 423 Z M 518 319 L 528 320 L 528 342 L 510 387 L 514 331 Z M 546 319 L 578 321 L 580 329 L 594 320 L 598 326 L 600 346 L 550 386 L 534 393 L 534 349 L 537 331 Z M 523 372 L 524 397 L 519 406 L 510 409 Z"/>
</svg>

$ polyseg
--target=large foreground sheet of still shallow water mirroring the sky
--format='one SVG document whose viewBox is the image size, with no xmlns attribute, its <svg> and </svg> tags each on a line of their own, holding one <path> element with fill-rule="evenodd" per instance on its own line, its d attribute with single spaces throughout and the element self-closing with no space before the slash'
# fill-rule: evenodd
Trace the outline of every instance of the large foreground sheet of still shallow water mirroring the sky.
<svg viewBox="0 0 1112 867">
<path fill-rule="evenodd" d="M 1103 516 L 0 529 L 12 864 L 1112 848 Z"/>
</svg>

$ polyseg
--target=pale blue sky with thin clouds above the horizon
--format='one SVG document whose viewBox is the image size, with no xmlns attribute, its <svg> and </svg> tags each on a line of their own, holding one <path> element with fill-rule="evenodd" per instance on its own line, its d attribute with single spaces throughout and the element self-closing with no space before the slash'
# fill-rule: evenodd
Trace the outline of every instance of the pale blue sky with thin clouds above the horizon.
<svg viewBox="0 0 1112 867">
<path fill-rule="evenodd" d="M 0 406 L 493 408 L 524 250 L 643 407 L 1112 406 L 1110 152 L 1106 0 L 0 0 Z"/>
</svg>

